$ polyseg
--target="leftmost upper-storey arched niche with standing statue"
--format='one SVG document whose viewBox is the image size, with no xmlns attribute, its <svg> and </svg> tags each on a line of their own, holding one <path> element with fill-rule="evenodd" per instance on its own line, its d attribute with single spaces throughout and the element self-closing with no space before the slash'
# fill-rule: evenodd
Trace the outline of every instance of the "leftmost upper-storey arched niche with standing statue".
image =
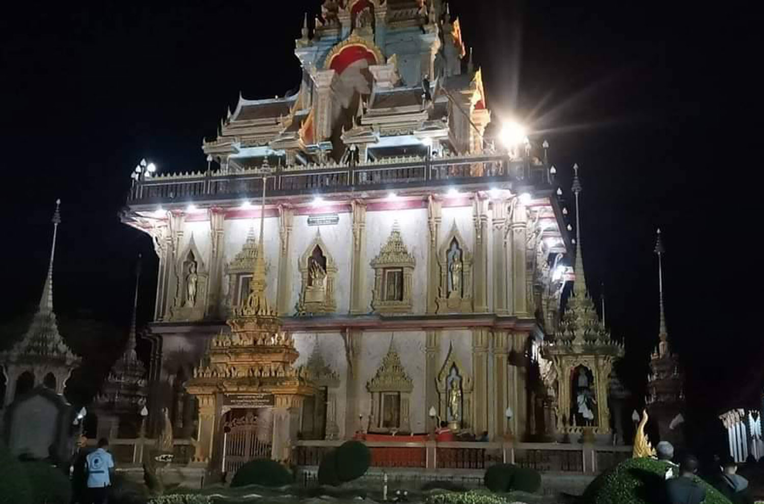
<svg viewBox="0 0 764 504">
<path fill-rule="evenodd" d="M 171 320 L 200 320 L 204 318 L 209 273 L 193 234 L 180 254 L 175 267 L 176 289 Z"/>
</svg>

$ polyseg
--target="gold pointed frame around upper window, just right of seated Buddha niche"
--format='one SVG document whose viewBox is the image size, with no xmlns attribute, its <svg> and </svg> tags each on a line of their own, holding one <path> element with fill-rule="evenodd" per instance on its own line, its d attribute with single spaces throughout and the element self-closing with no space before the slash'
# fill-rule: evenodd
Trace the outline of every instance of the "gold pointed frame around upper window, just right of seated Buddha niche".
<svg viewBox="0 0 764 504">
<path fill-rule="evenodd" d="M 390 236 L 380 248 L 380 253 L 369 264 L 374 269 L 371 309 L 385 314 L 410 313 L 413 307 L 412 286 L 416 259 L 409 254 L 406 244 L 403 243 L 397 221 L 393 223 Z M 403 273 L 402 299 L 387 300 L 387 273 L 392 270 L 400 270 Z"/>
</svg>

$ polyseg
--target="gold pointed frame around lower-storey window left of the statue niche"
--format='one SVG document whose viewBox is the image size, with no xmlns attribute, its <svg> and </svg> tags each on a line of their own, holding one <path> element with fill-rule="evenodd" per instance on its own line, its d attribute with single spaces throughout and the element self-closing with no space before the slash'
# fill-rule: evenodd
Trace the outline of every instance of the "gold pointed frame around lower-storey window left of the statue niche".
<svg viewBox="0 0 764 504">
<path fill-rule="evenodd" d="M 390 348 L 382 358 L 380 367 L 374 378 L 369 380 L 366 388 L 371 393 L 371 414 L 369 415 L 369 432 L 387 433 L 396 431 L 401 434 L 411 432 L 410 401 L 411 391 L 414 388 L 413 380 L 406 374 L 400 356 L 396 351 L 393 340 L 390 340 Z M 383 399 L 388 394 L 397 394 L 400 397 L 400 415 L 397 428 L 382 426 Z"/>
</svg>

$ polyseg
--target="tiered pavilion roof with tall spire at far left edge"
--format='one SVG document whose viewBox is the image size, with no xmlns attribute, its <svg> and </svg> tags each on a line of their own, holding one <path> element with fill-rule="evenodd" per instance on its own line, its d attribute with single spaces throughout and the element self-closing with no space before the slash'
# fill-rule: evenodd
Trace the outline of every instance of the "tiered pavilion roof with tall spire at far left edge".
<svg viewBox="0 0 764 504">
<path fill-rule="evenodd" d="M 32 318 L 28 331 L 21 341 L 10 350 L 0 354 L 0 364 L 5 374 L 4 405 L 44 386 L 57 394 L 63 394 L 66 380 L 79 365 L 79 357 L 72 353 L 58 331 L 56 314 L 53 312 L 53 259 L 56 255 L 56 237 L 61 222 L 60 200 L 53 213 L 53 243 L 47 276 L 40 296 L 40 304 Z"/>
</svg>

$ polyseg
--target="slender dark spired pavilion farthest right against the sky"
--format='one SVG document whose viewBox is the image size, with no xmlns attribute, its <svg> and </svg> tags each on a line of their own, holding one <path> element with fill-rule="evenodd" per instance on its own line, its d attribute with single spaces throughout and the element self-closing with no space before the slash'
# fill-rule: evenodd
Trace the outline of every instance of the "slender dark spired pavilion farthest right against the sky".
<svg viewBox="0 0 764 504">
<path fill-rule="evenodd" d="M 645 399 L 647 411 L 653 422 L 658 425 L 661 441 L 669 441 L 676 447 L 685 445 L 685 380 L 679 365 L 679 357 L 672 353 L 669 345 L 669 331 L 666 329 L 665 311 L 663 309 L 663 263 L 662 255 L 665 250 L 661 241 L 661 230 L 656 238 L 656 255 L 658 256 L 658 292 L 660 307 L 660 323 L 658 330 L 658 347 L 650 356 L 650 373 L 647 377 L 647 396 Z"/>
</svg>

